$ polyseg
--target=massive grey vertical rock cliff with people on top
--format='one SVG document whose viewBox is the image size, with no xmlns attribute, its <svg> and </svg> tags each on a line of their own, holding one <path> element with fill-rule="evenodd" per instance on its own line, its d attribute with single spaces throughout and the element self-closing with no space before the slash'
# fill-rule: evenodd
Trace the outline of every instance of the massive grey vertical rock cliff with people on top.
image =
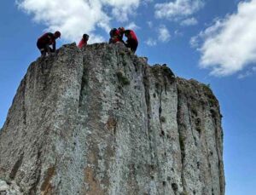
<svg viewBox="0 0 256 195">
<path fill-rule="evenodd" d="M 218 100 L 123 45 L 65 45 L 20 83 L 0 133 L 1 192 L 223 195 Z"/>
</svg>

